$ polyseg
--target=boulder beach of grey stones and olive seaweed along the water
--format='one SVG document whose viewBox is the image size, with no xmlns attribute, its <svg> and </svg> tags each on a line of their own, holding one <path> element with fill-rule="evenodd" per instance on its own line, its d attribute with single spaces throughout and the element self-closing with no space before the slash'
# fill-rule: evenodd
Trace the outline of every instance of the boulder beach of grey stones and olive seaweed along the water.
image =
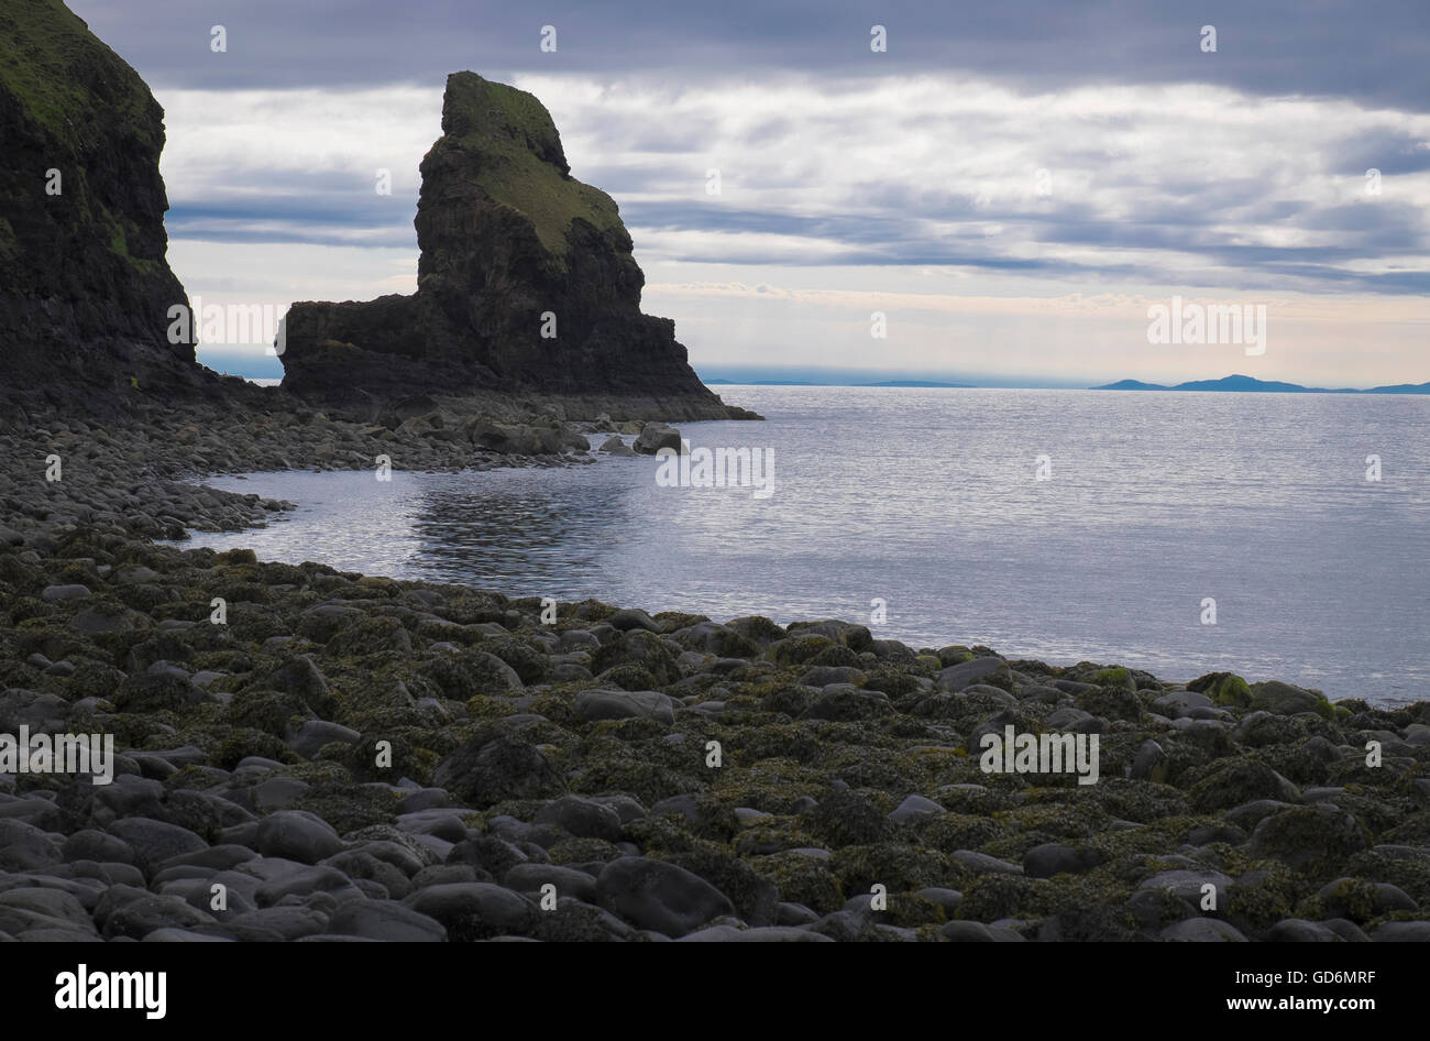
<svg viewBox="0 0 1430 1041">
<path fill-rule="evenodd" d="M 7 935 L 1430 938 L 1430 704 L 163 546 L 285 503 L 69 426 L 7 446 L 0 732 L 117 755 L 0 775 Z"/>
</svg>

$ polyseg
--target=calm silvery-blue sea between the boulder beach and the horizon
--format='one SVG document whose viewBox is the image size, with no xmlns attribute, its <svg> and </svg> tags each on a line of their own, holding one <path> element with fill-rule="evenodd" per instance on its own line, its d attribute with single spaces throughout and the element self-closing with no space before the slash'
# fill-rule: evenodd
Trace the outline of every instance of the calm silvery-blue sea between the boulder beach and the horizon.
<svg viewBox="0 0 1430 1041">
<path fill-rule="evenodd" d="M 875 635 L 914 646 L 1430 698 L 1430 398 L 719 392 L 768 420 L 682 432 L 772 452 L 768 498 L 661 488 L 651 458 L 253 473 L 210 483 L 299 509 L 190 545 L 721 621 L 882 611 Z"/>
</svg>

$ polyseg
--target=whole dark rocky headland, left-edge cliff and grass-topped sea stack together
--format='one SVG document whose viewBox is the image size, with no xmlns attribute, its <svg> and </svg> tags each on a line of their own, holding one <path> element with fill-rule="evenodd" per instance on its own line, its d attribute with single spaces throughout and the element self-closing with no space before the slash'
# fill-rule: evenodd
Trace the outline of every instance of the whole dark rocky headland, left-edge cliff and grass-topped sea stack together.
<svg viewBox="0 0 1430 1041">
<path fill-rule="evenodd" d="M 0 31 L 4 428 L 82 418 L 117 436 L 186 415 L 233 430 L 317 410 L 396 430 L 416 458 L 449 452 L 428 440 L 549 455 L 552 419 L 756 418 L 699 382 L 669 319 L 641 313 L 616 204 L 569 176 L 541 102 L 473 73 L 449 79 L 422 164 L 418 293 L 295 305 L 279 389 L 213 373 L 196 360 L 203 316 L 174 320 L 190 300 L 166 259 L 159 103 L 60 0 L 9 4 Z"/>
</svg>

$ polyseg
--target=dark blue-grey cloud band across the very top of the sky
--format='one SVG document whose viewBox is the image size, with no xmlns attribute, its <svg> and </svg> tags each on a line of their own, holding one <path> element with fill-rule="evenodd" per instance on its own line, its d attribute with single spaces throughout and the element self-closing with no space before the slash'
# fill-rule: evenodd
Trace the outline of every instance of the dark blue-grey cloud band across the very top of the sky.
<svg viewBox="0 0 1430 1041">
<path fill-rule="evenodd" d="M 439 84 L 448 71 L 662 70 L 686 82 L 805 70 L 868 74 L 965 70 L 1021 90 L 1084 84 L 1213 83 L 1253 94 L 1350 97 L 1430 106 L 1430 9 L 1423 0 L 728 0 L 671 4 L 588 0 L 73 0 L 94 30 L 152 82 L 186 87 Z M 541 53 L 542 24 L 558 51 Z M 889 50 L 869 51 L 887 26 Z M 223 24 L 229 50 L 209 50 Z M 1217 53 L 1200 29 L 1217 29 Z"/>
</svg>

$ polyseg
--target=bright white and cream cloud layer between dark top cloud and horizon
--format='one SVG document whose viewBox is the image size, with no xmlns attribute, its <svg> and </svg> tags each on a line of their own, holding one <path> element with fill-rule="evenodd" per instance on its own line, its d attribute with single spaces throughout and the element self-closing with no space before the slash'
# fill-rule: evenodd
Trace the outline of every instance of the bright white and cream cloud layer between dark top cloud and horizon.
<svg viewBox="0 0 1430 1041">
<path fill-rule="evenodd" d="M 885 365 L 967 372 L 1230 372 L 1231 356 L 1148 349 L 1145 303 L 1181 293 L 1284 305 L 1280 352 L 1253 375 L 1430 378 L 1424 305 L 1367 299 L 1364 282 L 1430 270 L 1430 173 L 1386 173 L 1371 197 L 1346 169 L 1366 142 L 1423 146 L 1427 116 L 1194 84 L 1022 94 L 967 76 L 516 86 L 552 110 L 573 176 L 621 203 L 646 306 L 676 319 L 698 363 L 852 366 L 877 347 Z M 159 96 L 172 260 L 190 292 L 410 292 L 439 90 Z M 373 192 L 378 167 L 390 197 Z M 874 300 L 914 316 L 882 345 L 857 313 Z"/>
</svg>

